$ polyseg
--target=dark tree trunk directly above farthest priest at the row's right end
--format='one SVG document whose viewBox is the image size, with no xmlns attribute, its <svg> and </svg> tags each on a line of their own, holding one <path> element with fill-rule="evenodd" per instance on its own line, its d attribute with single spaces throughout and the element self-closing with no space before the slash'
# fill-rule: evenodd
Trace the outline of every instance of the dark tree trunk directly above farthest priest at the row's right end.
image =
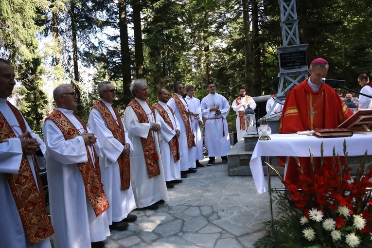
<svg viewBox="0 0 372 248">
<path fill-rule="evenodd" d="M 244 84 L 247 89 L 247 94 L 252 92 L 252 51 L 250 48 L 250 20 L 249 20 L 249 3 L 248 0 L 243 0 L 243 22 L 244 22 Z"/>
</svg>

